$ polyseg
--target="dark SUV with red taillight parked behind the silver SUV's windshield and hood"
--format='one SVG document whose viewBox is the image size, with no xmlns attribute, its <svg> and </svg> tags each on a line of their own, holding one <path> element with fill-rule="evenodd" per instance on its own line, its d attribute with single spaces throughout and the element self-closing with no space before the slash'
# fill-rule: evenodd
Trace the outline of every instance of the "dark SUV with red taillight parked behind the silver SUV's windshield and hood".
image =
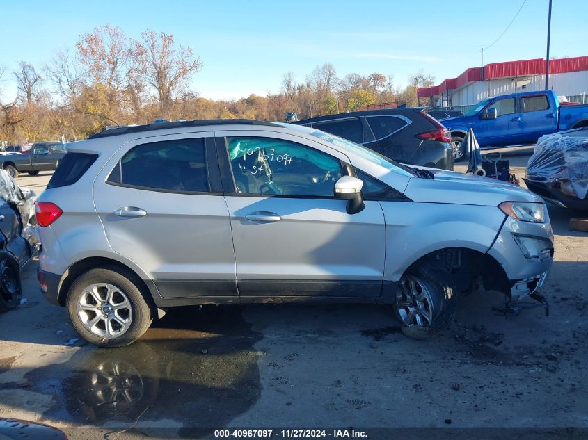
<svg viewBox="0 0 588 440">
<path fill-rule="evenodd" d="M 316 128 L 402 163 L 453 170 L 450 132 L 425 108 L 386 108 L 313 117 L 294 124 Z"/>
</svg>

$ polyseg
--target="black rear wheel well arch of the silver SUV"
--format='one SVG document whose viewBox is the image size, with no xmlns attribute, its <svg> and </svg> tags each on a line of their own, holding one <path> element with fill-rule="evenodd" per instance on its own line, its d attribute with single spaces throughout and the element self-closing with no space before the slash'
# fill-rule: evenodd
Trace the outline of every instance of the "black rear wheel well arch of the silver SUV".
<svg viewBox="0 0 588 440">
<path fill-rule="evenodd" d="M 79 275 L 87 272 L 90 269 L 97 269 L 97 268 L 109 268 L 114 269 L 122 272 L 123 275 L 128 276 L 132 282 L 136 283 L 139 291 L 143 293 L 145 297 L 145 301 L 154 309 L 154 301 L 152 298 L 152 294 L 150 289 L 148 288 L 147 284 L 143 281 L 141 277 L 139 277 L 134 270 L 129 268 L 120 261 L 116 261 L 113 259 L 105 258 L 102 256 L 93 256 L 90 258 L 86 258 L 77 263 L 74 263 L 70 266 L 69 269 L 65 272 L 65 276 L 61 280 L 61 284 L 59 286 L 59 291 L 57 294 L 57 299 L 59 304 L 65 306 L 67 302 L 67 293 L 70 292 L 70 287 L 72 286 L 73 282 L 79 277 Z"/>
</svg>

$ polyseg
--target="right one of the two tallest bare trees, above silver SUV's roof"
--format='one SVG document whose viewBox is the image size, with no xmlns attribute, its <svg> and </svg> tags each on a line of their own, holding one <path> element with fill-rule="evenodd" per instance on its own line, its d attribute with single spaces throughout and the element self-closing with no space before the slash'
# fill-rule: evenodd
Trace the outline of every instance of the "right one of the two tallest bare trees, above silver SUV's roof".
<svg viewBox="0 0 588 440">
<path fill-rule="evenodd" d="M 191 47 L 175 49 L 173 35 L 145 31 L 141 42 L 136 42 L 135 54 L 141 62 L 145 82 L 154 88 L 159 106 L 167 115 L 174 95 L 184 91 L 192 74 L 202 68 Z"/>
</svg>

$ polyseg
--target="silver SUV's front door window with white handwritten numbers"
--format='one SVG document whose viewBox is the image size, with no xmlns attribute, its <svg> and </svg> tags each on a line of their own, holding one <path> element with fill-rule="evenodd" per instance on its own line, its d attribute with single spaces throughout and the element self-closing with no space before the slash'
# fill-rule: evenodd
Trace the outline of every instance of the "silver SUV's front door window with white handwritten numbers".
<svg viewBox="0 0 588 440">
<path fill-rule="evenodd" d="M 227 138 L 237 193 L 333 197 L 341 161 L 306 145 L 273 138 Z"/>
</svg>

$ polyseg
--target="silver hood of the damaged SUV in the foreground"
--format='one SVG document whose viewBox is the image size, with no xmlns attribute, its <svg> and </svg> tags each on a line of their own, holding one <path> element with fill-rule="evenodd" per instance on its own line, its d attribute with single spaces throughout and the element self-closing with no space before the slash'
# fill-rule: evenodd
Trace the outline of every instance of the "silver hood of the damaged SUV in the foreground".
<svg viewBox="0 0 588 440">
<path fill-rule="evenodd" d="M 543 202 L 520 186 L 488 177 L 427 168 L 435 179 L 412 178 L 404 195 L 415 202 L 498 206 L 502 202 Z"/>
</svg>

